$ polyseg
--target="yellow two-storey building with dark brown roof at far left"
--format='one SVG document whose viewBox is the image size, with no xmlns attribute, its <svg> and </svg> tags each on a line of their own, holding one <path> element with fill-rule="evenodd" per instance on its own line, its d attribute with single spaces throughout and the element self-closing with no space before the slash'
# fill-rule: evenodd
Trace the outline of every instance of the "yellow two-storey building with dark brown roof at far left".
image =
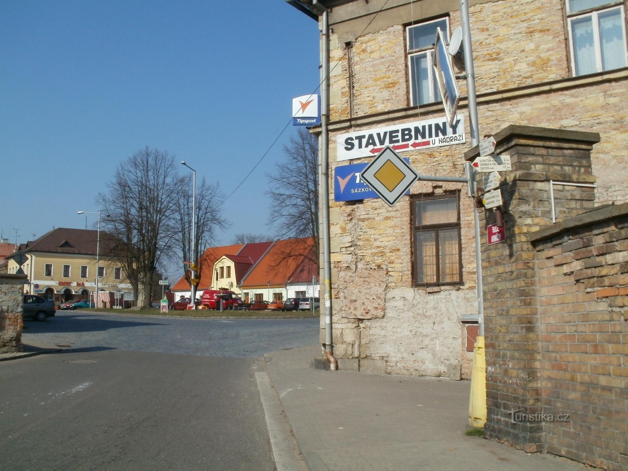
<svg viewBox="0 0 628 471">
<path fill-rule="evenodd" d="M 133 299 L 131 284 L 122 267 L 102 255 L 97 269 L 97 236 L 96 230 L 89 229 L 50 230 L 35 241 L 20 244 L 18 251 L 7 257 L 7 271 L 26 274 L 24 293 L 39 294 L 55 303 L 93 300 L 98 271 L 98 291 L 103 293 L 100 303 L 124 306 L 124 301 Z M 107 247 L 100 236 L 102 254 Z"/>
</svg>

